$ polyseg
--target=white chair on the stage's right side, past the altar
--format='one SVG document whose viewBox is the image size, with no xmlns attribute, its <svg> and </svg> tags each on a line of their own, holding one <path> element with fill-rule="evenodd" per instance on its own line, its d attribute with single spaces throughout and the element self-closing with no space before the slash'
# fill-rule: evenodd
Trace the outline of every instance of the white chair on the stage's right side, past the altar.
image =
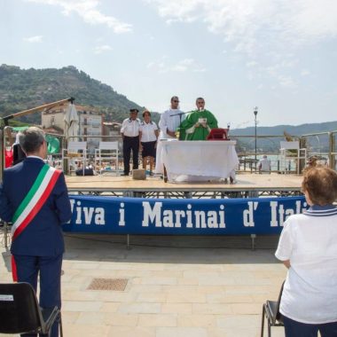
<svg viewBox="0 0 337 337">
<path fill-rule="evenodd" d="M 297 173 L 300 173 L 300 161 L 307 160 L 307 149 L 306 148 L 300 148 L 300 142 L 299 141 L 281 141 L 280 144 L 280 159 L 281 159 L 281 170 L 284 171 L 284 173 L 289 172 L 289 169 L 287 168 L 287 163 L 294 160 L 296 162 L 296 171 Z"/>
</svg>

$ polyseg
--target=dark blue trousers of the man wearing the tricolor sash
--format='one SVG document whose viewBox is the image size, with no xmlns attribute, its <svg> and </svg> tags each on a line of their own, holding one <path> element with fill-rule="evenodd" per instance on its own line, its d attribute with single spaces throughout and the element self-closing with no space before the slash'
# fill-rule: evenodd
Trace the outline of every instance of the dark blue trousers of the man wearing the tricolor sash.
<svg viewBox="0 0 337 337">
<path fill-rule="evenodd" d="M 18 281 L 27 282 L 37 289 L 37 279 L 40 276 L 41 308 L 61 308 L 61 268 L 62 254 L 56 256 L 14 255 L 17 267 Z M 22 336 L 36 336 L 23 334 Z M 59 336 L 59 322 L 51 327 L 51 337 Z"/>
</svg>

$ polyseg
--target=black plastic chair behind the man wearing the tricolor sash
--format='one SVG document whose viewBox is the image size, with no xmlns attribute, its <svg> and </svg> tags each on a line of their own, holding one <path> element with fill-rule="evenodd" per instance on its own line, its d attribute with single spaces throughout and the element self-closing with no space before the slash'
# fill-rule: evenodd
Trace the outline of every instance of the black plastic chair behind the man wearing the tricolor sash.
<svg viewBox="0 0 337 337">
<path fill-rule="evenodd" d="M 28 283 L 0 284 L 0 333 L 45 333 L 59 318 L 60 335 L 63 336 L 58 307 L 41 309 L 34 288 Z"/>
</svg>

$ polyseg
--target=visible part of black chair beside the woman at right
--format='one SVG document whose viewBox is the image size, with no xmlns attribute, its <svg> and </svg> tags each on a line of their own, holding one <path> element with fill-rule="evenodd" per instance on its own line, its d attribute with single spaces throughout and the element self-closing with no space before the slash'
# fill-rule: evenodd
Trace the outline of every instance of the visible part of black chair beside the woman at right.
<svg viewBox="0 0 337 337">
<path fill-rule="evenodd" d="M 261 324 L 261 337 L 263 337 L 263 330 L 264 330 L 264 317 L 267 318 L 268 322 L 268 337 L 271 336 L 271 326 L 283 326 L 283 317 L 282 314 L 278 311 L 279 310 L 279 303 L 281 302 L 283 286 L 285 282 L 283 282 L 281 286 L 281 290 L 278 294 L 278 301 L 270 301 L 267 300 L 263 304 L 263 316 L 262 316 L 262 324 Z"/>
</svg>

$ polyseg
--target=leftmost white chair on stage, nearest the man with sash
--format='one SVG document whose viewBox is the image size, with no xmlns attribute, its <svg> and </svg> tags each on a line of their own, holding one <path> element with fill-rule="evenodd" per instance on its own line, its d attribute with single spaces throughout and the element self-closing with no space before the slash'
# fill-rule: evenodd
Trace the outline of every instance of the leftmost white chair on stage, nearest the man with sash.
<svg viewBox="0 0 337 337">
<path fill-rule="evenodd" d="M 87 142 L 69 141 L 67 149 L 62 151 L 62 162 L 64 165 L 65 159 L 67 159 L 68 172 L 78 169 L 78 165 L 75 161 L 82 162 L 82 169 L 84 175 L 84 169 L 87 162 Z M 71 169 L 73 168 L 73 169 Z"/>
</svg>

